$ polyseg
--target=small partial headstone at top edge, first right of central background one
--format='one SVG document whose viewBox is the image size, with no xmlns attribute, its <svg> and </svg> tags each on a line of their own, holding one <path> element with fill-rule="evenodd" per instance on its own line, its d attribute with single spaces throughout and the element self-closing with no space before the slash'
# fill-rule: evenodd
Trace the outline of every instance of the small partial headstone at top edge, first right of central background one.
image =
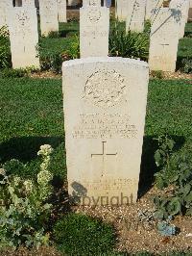
<svg viewBox="0 0 192 256">
<path fill-rule="evenodd" d="M 116 0 L 115 1 L 115 17 L 119 21 L 126 21 L 129 10 L 128 0 Z"/>
</svg>

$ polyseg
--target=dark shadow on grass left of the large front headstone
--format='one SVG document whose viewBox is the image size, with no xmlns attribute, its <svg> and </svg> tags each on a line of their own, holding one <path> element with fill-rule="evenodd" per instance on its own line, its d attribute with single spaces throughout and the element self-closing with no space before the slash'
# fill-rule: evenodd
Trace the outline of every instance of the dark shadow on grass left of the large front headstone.
<svg viewBox="0 0 192 256">
<path fill-rule="evenodd" d="M 22 163 L 36 159 L 37 151 L 43 144 L 56 148 L 63 142 L 62 137 L 21 137 L 12 138 L 0 144 L 0 163 L 17 159 Z"/>
</svg>

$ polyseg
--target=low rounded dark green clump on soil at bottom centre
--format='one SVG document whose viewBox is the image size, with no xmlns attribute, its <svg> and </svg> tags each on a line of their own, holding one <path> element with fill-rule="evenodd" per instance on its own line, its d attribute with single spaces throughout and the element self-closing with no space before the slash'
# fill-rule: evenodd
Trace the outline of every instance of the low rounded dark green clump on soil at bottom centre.
<svg viewBox="0 0 192 256">
<path fill-rule="evenodd" d="M 111 225 L 84 215 L 69 214 L 55 225 L 54 238 L 60 250 L 70 255 L 99 255 L 115 244 Z"/>
</svg>

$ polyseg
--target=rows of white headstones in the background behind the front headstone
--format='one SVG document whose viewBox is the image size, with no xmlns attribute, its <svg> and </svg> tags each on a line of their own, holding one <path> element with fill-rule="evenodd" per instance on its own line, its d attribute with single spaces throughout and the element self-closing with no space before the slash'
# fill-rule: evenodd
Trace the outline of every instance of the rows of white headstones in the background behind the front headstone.
<svg viewBox="0 0 192 256">
<path fill-rule="evenodd" d="M 5 0 L 1 1 L 2 6 Z M 118 0 L 117 4 L 118 10 L 120 1 Z M 11 2 L 10 0 L 6 3 L 10 3 L 12 6 Z M 131 4 L 132 2 L 134 5 Z M 132 8 L 127 6 L 127 10 L 132 10 L 132 12 L 128 13 L 127 20 L 129 19 L 134 24 L 144 23 L 144 17 L 141 18 L 141 13 L 144 15 L 144 3 L 146 1 L 143 0 L 129 1 Z M 61 15 L 64 13 L 65 20 L 66 0 L 58 0 L 58 3 L 53 0 L 41 0 L 39 4 L 41 34 L 48 35 L 50 31 L 58 31 L 58 11 L 61 11 Z M 170 5 L 171 9 L 161 7 L 153 11 L 149 58 L 152 70 L 174 71 L 176 68 L 178 43 L 184 33 L 189 0 L 172 0 Z M 125 7 L 122 6 L 122 9 L 124 10 Z M 36 57 L 37 16 L 34 0 L 23 0 L 22 8 L 11 7 L 9 10 L 12 66 L 34 65 L 38 67 L 39 59 Z M 135 19 L 132 17 L 135 17 L 137 21 L 134 22 Z M 133 25 L 133 28 L 135 26 L 137 25 Z M 109 9 L 101 7 L 100 0 L 84 0 L 84 7 L 80 10 L 81 57 L 108 56 L 108 33 Z"/>
</svg>

